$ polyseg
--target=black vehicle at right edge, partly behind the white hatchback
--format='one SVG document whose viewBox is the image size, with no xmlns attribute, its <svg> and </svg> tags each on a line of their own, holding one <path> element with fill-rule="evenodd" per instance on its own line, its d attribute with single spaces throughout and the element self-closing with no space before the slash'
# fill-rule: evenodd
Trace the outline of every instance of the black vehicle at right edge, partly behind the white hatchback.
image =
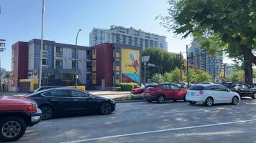
<svg viewBox="0 0 256 143">
<path fill-rule="evenodd" d="M 224 82 L 222 85 L 233 92 L 237 92 L 240 97 L 252 97 L 252 99 L 256 99 L 256 89 L 251 88 L 250 85 L 244 82 Z"/>
</svg>

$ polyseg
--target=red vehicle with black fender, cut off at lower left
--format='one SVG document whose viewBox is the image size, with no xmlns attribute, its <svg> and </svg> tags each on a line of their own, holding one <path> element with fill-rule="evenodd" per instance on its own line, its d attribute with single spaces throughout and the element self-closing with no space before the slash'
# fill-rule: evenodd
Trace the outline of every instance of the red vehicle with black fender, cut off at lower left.
<svg viewBox="0 0 256 143">
<path fill-rule="evenodd" d="M 40 122 L 41 115 L 31 99 L 0 95 L 0 141 L 17 141 L 27 127 Z"/>
</svg>

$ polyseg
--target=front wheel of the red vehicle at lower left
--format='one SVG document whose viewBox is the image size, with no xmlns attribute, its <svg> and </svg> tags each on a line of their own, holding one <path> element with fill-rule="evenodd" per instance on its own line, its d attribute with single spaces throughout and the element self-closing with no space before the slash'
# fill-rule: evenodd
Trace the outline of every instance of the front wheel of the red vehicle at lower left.
<svg viewBox="0 0 256 143">
<path fill-rule="evenodd" d="M 26 122 L 20 117 L 6 117 L 0 122 L 0 140 L 14 142 L 23 136 L 27 128 Z"/>
</svg>

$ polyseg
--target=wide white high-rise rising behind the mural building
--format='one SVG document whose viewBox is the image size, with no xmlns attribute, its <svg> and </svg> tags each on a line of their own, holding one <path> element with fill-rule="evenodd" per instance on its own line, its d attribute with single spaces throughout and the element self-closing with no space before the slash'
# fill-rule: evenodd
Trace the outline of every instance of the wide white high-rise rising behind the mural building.
<svg viewBox="0 0 256 143">
<path fill-rule="evenodd" d="M 123 26 L 111 25 L 110 29 L 93 28 L 90 33 L 90 46 L 103 43 L 140 46 L 142 49 L 154 46 L 165 51 L 168 50 L 165 36 L 151 34 L 141 29 L 134 29 L 133 27 L 125 28 Z"/>
</svg>

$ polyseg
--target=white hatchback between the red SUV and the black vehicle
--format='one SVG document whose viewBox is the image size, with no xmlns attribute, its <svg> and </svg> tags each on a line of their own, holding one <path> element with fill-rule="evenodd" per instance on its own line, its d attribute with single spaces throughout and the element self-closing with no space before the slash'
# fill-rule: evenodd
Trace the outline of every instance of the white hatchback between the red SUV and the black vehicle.
<svg viewBox="0 0 256 143">
<path fill-rule="evenodd" d="M 238 104 L 240 96 L 220 84 L 195 84 L 188 89 L 186 100 L 190 104 L 203 102 L 211 107 L 213 104 L 232 103 Z"/>
</svg>

